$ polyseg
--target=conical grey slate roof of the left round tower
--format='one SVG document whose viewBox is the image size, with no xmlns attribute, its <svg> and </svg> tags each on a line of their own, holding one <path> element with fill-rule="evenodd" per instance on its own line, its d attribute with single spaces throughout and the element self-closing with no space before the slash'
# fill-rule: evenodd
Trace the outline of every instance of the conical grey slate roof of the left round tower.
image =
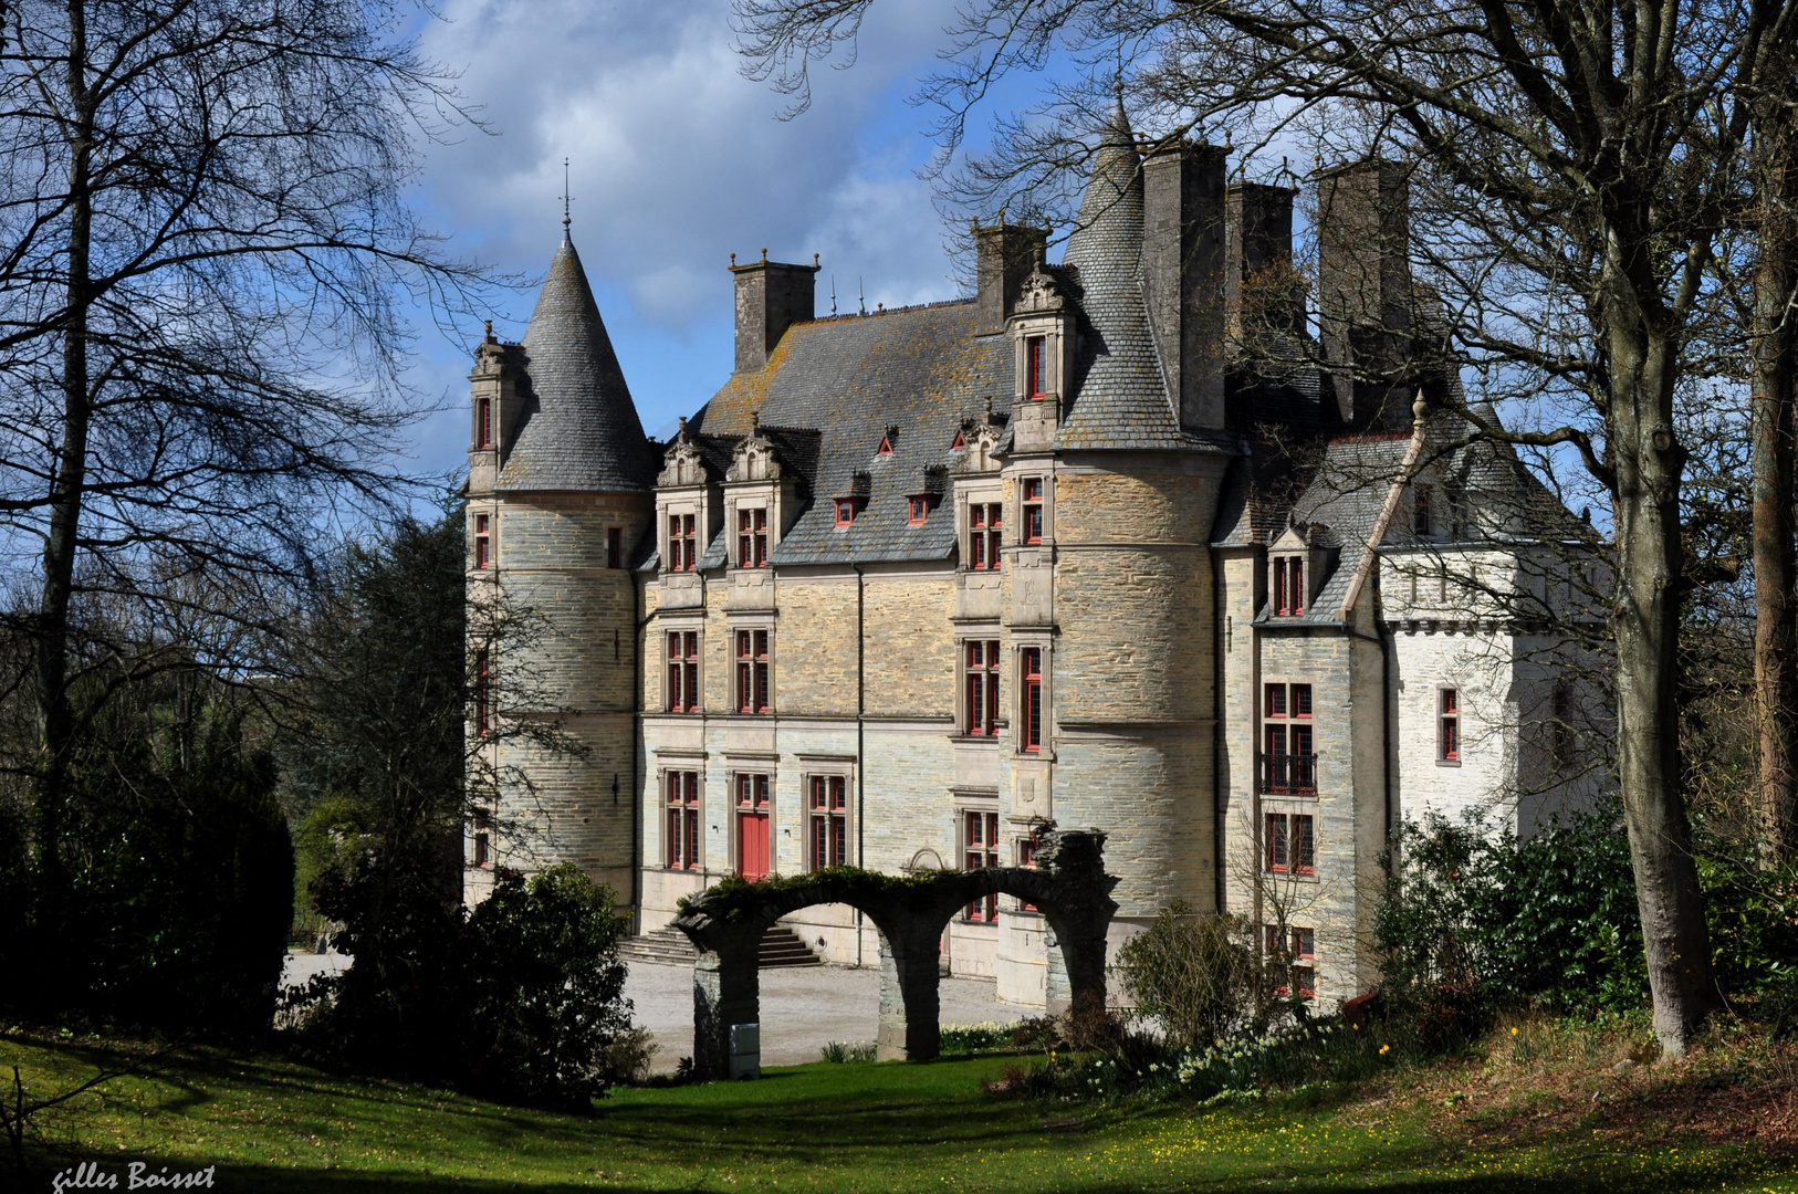
<svg viewBox="0 0 1798 1194">
<path fill-rule="evenodd" d="M 563 239 L 525 329 L 530 396 L 498 489 L 642 493 L 649 441 L 599 318 L 581 255 Z"/>
</svg>

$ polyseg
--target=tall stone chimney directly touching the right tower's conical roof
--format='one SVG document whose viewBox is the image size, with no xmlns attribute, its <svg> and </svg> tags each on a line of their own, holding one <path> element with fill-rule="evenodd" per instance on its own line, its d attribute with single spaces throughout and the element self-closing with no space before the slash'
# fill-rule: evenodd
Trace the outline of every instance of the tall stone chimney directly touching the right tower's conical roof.
<svg viewBox="0 0 1798 1194">
<path fill-rule="evenodd" d="M 1142 275 L 1187 432 L 1224 426 L 1224 149 L 1181 142 L 1142 165 Z"/>
</svg>

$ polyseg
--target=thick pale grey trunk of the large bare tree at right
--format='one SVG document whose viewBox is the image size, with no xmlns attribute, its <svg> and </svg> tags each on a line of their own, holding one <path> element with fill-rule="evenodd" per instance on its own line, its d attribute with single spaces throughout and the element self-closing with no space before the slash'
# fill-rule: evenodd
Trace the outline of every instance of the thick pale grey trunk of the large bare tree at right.
<svg viewBox="0 0 1798 1194">
<path fill-rule="evenodd" d="M 1654 998 L 1654 1036 L 1685 1052 L 1715 1011 L 1710 933 L 1692 858 L 1674 699 L 1679 642 L 1679 471 L 1672 437 L 1676 345 L 1624 279 L 1606 270 L 1609 455 L 1616 468 L 1616 759 Z"/>
</svg>

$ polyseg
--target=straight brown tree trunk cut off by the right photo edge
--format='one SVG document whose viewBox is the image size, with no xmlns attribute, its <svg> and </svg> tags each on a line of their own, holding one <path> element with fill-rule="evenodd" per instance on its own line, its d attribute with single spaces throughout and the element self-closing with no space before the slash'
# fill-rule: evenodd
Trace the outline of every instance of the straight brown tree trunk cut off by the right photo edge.
<svg viewBox="0 0 1798 1194">
<path fill-rule="evenodd" d="M 1791 115 L 1766 102 L 1755 120 L 1758 259 L 1755 263 L 1753 372 L 1753 550 L 1757 813 L 1771 860 L 1798 849 L 1798 656 L 1793 601 L 1793 219 Z"/>
</svg>

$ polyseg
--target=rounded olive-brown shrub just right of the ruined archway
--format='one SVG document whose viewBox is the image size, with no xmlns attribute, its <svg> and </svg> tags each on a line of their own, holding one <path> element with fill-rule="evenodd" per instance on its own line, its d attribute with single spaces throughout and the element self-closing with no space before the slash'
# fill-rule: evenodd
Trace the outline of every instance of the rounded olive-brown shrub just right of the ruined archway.
<svg viewBox="0 0 1798 1194">
<path fill-rule="evenodd" d="M 1190 1048 L 1230 1032 L 1251 1009 L 1255 958 L 1241 917 L 1196 917 L 1170 903 L 1118 949 L 1118 975 L 1136 1011 L 1162 1025 L 1167 1043 Z"/>
</svg>

